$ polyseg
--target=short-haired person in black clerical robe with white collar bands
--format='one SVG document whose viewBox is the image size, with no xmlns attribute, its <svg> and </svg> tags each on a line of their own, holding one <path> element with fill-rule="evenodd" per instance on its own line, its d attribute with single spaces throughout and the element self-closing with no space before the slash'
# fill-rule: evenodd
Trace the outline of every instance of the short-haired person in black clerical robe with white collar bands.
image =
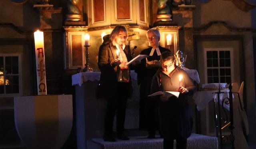
<svg viewBox="0 0 256 149">
<path fill-rule="evenodd" d="M 151 28 L 146 34 L 150 48 L 142 50 L 140 54 L 149 57 L 141 60 L 135 72 L 138 74 L 138 84 L 140 85 L 140 129 L 148 129 L 148 138 L 155 138 L 158 129 L 158 100 L 148 97 L 150 94 L 151 81 L 156 71 L 161 67 L 160 55 L 169 51 L 159 46 L 160 32 L 157 28 Z"/>
</svg>

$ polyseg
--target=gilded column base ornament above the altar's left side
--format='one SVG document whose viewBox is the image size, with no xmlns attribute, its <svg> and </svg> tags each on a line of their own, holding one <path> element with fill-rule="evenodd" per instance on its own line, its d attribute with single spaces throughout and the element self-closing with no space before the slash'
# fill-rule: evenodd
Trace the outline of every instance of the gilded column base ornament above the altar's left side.
<svg viewBox="0 0 256 149">
<path fill-rule="evenodd" d="M 66 21 L 81 21 L 82 16 L 78 8 L 79 0 L 70 0 L 68 3 L 68 14 L 66 15 Z"/>
</svg>

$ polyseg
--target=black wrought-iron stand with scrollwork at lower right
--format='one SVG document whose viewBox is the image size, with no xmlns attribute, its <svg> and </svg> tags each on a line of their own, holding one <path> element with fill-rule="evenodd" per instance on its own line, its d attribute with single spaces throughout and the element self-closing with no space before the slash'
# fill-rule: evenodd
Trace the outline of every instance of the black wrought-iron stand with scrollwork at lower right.
<svg viewBox="0 0 256 149">
<path fill-rule="evenodd" d="M 224 129 L 226 126 L 229 125 L 229 129 L 230 129 L 230 141 L 232 143 L 232 149 L 234 149 L 234 140 L 235 140 L 235 136 L 233 134 L 233 129 L 234 129 L 234 119 L 233 119 L 233 92 L 232 92 L 232 85 L 230 84 L 228 86 L 228 89 L 229 89 L 229 92 L 221 92 L 220 91 L 220 87 L 219 87 L 219 90 L 218 92 L 215 92 L 218 94 L 218 114 L 216 114 L 216 104 L 215 104 L 215 108 L 214 108 L 214 119 L 215 119 L 215 122 L 217 120 L 217 117 L 218 117 L 218 125 L 216 125 L 216 136 L 219 137 L 220 139 L 220 149 L 223 148 L 223 139 L 224 139 L 224 136 L 222 136 L 222 129 Z M 221 112 L 220 112 L 220 94 L 221 93 L 229 93 L 229 98 L 225 98 L 222 100 L 222 108 L 224 109 L 224 104 L 229 104 L 229 108 L 230 108 L 230 122 L 227 123 L 227 119 L 228 119 L 228 115 L 226 114 L 225 112 L 225 115 L 226 115 L 226 120 L 224 118 L 221 117 Z M 238 97 L 239 97 L 239 94 L 238 94 Z M 228 101 L 225 101 L 225 100 L 228 100 Z M 239 97 L 240 99 L 240 97 Z M 224 126 L 222 127 L 222 121 L 224 120 Z M 219 132 L 219 133 L 218 133 Z M 220 134 L 220 135 L 218 135 Z"/>
</svg>

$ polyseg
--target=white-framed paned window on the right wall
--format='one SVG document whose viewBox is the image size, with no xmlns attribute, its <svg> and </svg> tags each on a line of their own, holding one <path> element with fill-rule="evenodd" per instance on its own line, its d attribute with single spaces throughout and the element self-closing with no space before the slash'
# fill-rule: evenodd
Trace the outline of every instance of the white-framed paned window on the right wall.
<svg viewBox="0 0 256 149">
<path fill-rule="evenodd" d="M 205 82 L 233 82 L 233 48 L 205 48 Z"/>
</svg>

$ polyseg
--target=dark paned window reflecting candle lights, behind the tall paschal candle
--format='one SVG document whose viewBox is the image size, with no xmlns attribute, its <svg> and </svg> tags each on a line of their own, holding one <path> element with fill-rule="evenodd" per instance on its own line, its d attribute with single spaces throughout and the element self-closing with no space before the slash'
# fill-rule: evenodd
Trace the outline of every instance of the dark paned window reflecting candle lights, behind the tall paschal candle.
<svg viewBox="0 0 256 149">
<path fill-rule="evenodd" d="M 0 95 L 20 93 L 19 56 L 0 56 Z"/>
</svg>

